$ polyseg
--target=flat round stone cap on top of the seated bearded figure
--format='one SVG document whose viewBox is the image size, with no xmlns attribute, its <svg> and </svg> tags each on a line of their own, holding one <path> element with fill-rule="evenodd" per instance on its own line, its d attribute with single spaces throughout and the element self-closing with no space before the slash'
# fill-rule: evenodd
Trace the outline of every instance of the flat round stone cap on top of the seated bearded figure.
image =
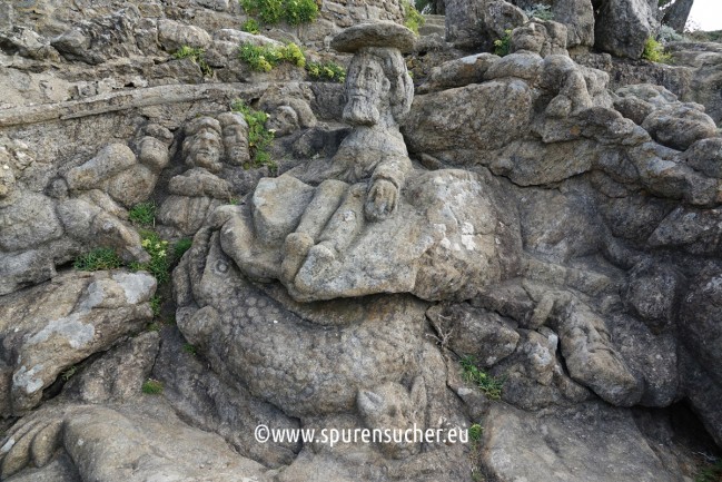
<svg viewBox="0 0 722 482">
<path fill-rule="evenodd" d="M 330 47 L 339 52 L 354 53 L 363 47 L 390 47 L 408 52 L 416 36 L 409 29 L 392 21 L 358 23 L 338 32 Z"/>
</svg>

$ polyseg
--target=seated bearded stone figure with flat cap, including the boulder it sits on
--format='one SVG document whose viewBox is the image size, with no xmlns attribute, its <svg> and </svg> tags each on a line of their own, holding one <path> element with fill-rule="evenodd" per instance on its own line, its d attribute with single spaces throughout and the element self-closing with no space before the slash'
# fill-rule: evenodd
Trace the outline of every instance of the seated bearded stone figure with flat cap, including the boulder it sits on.
<svg viewBox="0 0 722 482">
<path fill-rule="evenodd" d="M 413 97 L 399 48 L 413 37 L 382 27 L 358 24 L 333 41 L 355 53 L 343 114 L 354 128 L 320 184 L 261 179 L 246 205 L 218 214 L 221 245 L 239 268 L 280 281 L 298 301 L 469 297 L 515 269 L 518 242 L 489 178 L 412 168 L 398 122 Z"/>
</svg>

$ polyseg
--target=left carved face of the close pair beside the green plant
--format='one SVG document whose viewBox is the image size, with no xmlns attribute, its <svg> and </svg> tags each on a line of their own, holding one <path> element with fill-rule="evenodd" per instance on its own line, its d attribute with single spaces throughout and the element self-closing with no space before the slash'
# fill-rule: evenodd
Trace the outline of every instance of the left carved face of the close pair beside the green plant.
<svg viewBox="0 0 722 482">
<path fill-rule="evenodd" d="M 186 126 L 186 140 L 182 151 L 186 164 L 191 167 L 202 167 L 211 173 L 222 168 L 220 124 L 211 117 L 200 117 Z"/>
</svg>

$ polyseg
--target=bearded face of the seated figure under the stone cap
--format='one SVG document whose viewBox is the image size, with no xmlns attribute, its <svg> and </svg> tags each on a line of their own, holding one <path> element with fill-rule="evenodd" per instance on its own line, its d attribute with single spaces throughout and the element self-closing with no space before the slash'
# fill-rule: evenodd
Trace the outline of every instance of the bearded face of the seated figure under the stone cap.
<svg viewBox="0 0 722 482">
<path fill-rule="evenodd" d="M 344 108 L 344 120 L 359 126 L 378 124 L 383 110 L 388 109 L 389 90 L 390 81 L 379 61 L 369 55 L 357 55 L 346 76 L 348 101 Z"/>
</svg>

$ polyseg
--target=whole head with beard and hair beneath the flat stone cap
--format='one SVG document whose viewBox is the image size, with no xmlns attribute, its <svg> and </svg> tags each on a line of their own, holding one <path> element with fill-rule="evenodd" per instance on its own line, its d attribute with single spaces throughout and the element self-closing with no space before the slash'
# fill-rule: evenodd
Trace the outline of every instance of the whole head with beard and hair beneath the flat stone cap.
<svg viewBox="0 0 722 482">
<path fill-rule="evenodd" d="M 346 96 L 347 122 L 369 126 L 390 116 L 398 124 L 414 99 L 414 83 L 398 49 L 365 47 L 357 51 L 346 75 Z"/>
</svg>

